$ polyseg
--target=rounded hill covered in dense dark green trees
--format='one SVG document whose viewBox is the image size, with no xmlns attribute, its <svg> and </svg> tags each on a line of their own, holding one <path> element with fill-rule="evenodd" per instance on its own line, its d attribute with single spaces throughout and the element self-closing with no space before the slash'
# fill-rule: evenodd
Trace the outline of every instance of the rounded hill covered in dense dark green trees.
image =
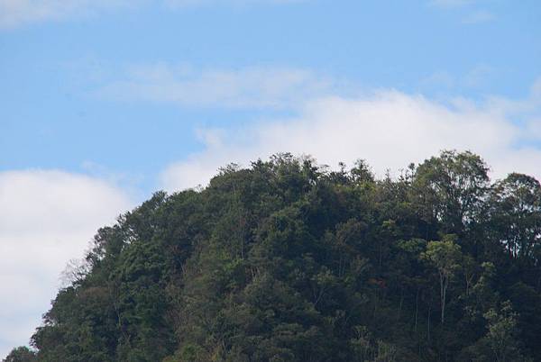
<svg viewBox="0 0 541 362">
<path fill-rule="evenodd" d="M 280 154 L 97 231 L 7 361 L 541 361 L 541 186 Z"/>
</svg>

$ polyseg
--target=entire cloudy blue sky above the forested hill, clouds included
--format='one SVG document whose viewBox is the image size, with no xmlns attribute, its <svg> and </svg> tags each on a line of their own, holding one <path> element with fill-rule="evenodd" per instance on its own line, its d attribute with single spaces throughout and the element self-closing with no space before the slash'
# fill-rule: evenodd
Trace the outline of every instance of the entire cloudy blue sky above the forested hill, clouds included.
<svg viewBox="0 0 541 362">
<path fill-rule="evenodd" d="M 0 0 L 0 357 L 96 230 L 276 152 L 541 179 L 538 0 Z"/>
</svg>

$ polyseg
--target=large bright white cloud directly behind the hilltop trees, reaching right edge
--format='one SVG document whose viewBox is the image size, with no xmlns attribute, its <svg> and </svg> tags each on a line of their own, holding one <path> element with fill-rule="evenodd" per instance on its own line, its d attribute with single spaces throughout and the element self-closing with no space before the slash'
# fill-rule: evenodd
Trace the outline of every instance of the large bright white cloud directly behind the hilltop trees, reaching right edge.
<svg viewBox="0 0 541 362">
<path fill-rule="evenodd" d="M 528 130 L 538 127 L 531 124 L 534 121 L 527 127 L 515 122 L 518 115 L 535 119 L 535 95 L 523 101 L 491 98 L 484 104 L 462 99 L 451 105 L 393 90 L 349 99 L 320 98 L 307 102 L 292 119 L 222 134 L 209 130 L 212 142 L 170 165 L 161 175 L 162 185 L 168 190 L 206 185 L 218 167 L 229 162 L 247 166 L 280 151 L 311 154 L 331 166 L 365 158 L 382 176 L 388 167 L 398 171 L 441 149 L 471 149 L 489 162 L 493 176 L 518 171 L 541 179 L 541 150 L 518 147 L 531 139 Z"/>
</svg>

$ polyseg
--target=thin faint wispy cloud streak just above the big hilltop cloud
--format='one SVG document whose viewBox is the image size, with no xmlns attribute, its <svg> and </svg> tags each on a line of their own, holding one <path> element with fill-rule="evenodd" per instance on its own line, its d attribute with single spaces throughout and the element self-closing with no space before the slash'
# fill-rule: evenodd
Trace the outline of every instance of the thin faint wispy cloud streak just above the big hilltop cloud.
<svg viewBox="0 0 541 362">
<path fill-rule="evenodd" d="M 130 68 L 126 79 L 97 93 L 122 101 L 183 106 L 288 107 L 327 94 L 335 81 L 298 68 L 204 69 L 155 64 Z"/>
</svg>

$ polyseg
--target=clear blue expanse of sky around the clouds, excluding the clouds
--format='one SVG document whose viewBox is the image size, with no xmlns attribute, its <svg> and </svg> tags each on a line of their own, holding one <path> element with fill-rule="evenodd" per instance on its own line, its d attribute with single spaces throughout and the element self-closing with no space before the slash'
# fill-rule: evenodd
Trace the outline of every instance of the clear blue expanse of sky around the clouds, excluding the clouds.
<svg viewBox="0 0 541 362">
<path fill-rule="evenodd" d="M 473 99 L 524 97 L 541 75 L 536 1 L 282 3 L 83 4 L 4 29 L 0 168 L 89 172 L 92 163 L 137 176 L 148 192 L 161 168 L 203 147 L 195 128 L 276 111 L 99 95 L 133 67 L 308 69 L 362 90 Z"/>
</svg>

